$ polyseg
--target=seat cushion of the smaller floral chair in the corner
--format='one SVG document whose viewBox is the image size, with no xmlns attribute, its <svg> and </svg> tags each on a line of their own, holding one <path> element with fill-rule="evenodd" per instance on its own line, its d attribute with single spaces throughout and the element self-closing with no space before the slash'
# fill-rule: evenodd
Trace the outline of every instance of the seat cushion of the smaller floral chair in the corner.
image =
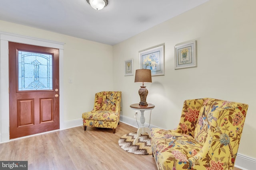
<svg viewBox="0 0 256 170">
<path fill-rule="evenodd" d="M 115 111 L 93 110 L 83 113 L 82 118 L 98 121 L 116 121 L 118 119 L 118 114 L 116 114 Z"/>
</svg>

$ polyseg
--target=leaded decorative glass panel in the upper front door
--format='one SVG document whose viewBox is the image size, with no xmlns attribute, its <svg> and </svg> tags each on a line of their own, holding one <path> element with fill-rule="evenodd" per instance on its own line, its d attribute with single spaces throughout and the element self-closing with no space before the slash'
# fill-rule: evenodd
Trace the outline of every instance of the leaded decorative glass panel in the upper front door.
<svg viewBox="0 0 256 170">
<path fill-rule="evenodd" d="M 18 86 L 23 90 L 52 90 L 52 55 L 18 51 Z"/>
</svg>

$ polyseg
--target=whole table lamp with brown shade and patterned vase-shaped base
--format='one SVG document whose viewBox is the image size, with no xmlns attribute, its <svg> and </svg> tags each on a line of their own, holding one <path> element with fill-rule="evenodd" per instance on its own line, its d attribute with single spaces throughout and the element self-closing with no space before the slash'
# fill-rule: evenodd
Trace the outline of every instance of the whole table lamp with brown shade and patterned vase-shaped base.
<svg viewBox="0 0 256 170">
<path fill-rule="evenodd" d="M 146 98 L 148 95 L 148 90 L 146 89 L 146 86 L 144 86 L 144 83 L 151 83 L 151 70 L 149 69 L 138 69 L 135 73 L 135 80 L 136 83 L 142 83 L 142 86 L 140 86 L 139 95 L 140 95 L 140 103 L 139 105 L 147 106 L 148 103 L 146 102 Z"/>
</svg>

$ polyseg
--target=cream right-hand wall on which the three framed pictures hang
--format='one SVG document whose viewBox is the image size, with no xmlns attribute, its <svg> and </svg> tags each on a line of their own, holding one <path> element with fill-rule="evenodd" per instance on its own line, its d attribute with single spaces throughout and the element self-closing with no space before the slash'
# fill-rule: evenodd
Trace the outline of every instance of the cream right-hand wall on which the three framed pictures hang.
<svg viewBox="0 0 256 170">
<path fill-rule="evenodd" d="M 122 90 L 122 116 L 134 119 L 130 104 L 140 101 L 141 84 L 124 76 L 124 61 L 138 51 L 165 43 L 165 75 L 146 84 L 147 102 L 155 104 L 151 125 L 173 129 L 180 120 L 183 101 L 218 98 L 249 104 L 239 154 L 256 158 L 256 1 L 210 0 L 184 14 L 114 45 L 114 84 Z M 174 70 L 174 46 L 197 40 L 198 66 Z M 149 113 L 149 112 L 148 112 Z M 146 123 L 149 114 L 145 111 Z"/>
</svg>

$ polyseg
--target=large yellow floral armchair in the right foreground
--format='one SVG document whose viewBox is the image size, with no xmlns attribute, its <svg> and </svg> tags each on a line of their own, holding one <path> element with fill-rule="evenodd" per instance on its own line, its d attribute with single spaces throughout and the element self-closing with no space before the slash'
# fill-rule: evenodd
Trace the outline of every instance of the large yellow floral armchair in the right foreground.
<svg viewBox="0 0 256 170">
<path fill-rule="evenodd" d="M 247 109 L 212 98 L 185 100 L 176 129 L 151 129 L 158 169 L 233 170 Z"/>
</svg>

